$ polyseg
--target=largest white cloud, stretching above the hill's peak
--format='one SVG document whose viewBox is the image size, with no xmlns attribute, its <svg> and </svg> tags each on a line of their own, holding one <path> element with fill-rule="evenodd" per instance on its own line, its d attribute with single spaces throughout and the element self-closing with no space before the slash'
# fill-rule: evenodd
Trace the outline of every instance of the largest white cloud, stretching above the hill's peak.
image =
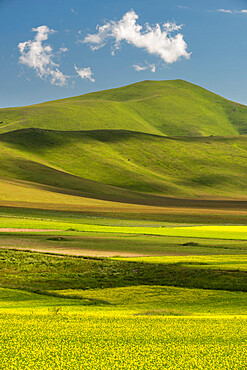
<svg viewBox="0 0 247 370">
<path fill-rule="evenodd" d="M 174 63 L 180 57 L 190 58 L 187 52 L 187 44 L 181 33 L 174 34 L 181 30 L 181 25 L 167 22 L 160 26 L 145 28 L 137 23 L 138 15 L 129 11 L 118 22 L 110 21 L 103 26 L 97 26 L 98 32 L 88 34 L 82 42 L 89 43 L 92 50 L 103 47 L 109 39 L 114 40 L 114 51 L 120 48 L 122 41 L 146 50 L 149 54 L 159 56 L 165 63 Z"/>
</svg>

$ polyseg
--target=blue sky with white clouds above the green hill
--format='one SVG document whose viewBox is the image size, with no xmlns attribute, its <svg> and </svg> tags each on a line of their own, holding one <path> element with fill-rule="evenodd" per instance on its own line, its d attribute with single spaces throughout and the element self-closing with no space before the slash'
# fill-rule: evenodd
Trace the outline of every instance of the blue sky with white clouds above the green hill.
<svg viewBox="0 0 247 370">
<path fill-rule="evenodd" d="M 0 107 L 152 79 L 247 104 L 247 1 L 0 0 Z"/>
</svg>

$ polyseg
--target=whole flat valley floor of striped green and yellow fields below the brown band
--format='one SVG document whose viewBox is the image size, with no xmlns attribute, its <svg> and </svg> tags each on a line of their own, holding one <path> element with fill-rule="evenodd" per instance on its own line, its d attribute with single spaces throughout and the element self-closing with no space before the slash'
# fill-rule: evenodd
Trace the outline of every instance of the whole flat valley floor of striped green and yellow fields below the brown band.
<svg viewBox="0 0 247 370">
<path fill-rule="evenodd" d="M 97 212 L 0 208 L 0 369 L 245 369 L 247 227 Z"/>
</svg>

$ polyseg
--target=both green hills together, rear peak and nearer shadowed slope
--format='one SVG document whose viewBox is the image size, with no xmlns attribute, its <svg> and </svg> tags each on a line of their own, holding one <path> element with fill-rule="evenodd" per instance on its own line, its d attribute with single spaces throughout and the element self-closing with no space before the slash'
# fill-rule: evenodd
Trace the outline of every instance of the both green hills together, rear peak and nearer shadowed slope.
<svg viewBox="0 0 247 370">
<path fill-rule="evenodd" d="M 129 203 L 247 199 L 247 107 L 184 81 L 1 109 L 0 122 L 0 178 Z"/>
</svg>

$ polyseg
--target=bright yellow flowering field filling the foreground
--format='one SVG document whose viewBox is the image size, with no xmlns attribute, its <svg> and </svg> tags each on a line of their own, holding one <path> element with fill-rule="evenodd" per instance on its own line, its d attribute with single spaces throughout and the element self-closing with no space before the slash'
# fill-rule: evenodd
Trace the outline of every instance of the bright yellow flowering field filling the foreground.
<svg viewBox="0 0 247 370">
<path fill-rule="evenodd" d="M 1 369 L 246 369 L 247 317 L 2 311 Z"/>
</svg>

